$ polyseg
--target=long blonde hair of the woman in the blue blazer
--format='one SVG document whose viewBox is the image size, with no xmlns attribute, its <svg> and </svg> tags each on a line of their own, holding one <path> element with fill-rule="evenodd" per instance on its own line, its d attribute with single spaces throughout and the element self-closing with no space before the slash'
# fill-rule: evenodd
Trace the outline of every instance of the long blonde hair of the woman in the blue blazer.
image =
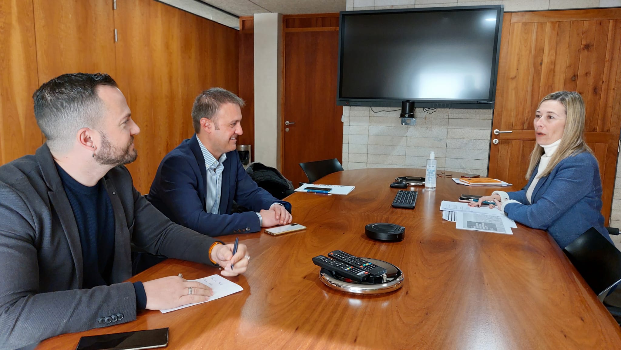
<svg viewBox="0 0 621 350">
<path fill-rule="evenodd" d="M 584 142 L 584 100 L 582 96 L 576 91 L 558 91 L 556 93 L 548 94 L 539 103 L 539 106 L 543 101 L 559 101 L 565 107 L 567 119 L 565 121 L 565 130 L 561 137 L 561 144 L 558 145 L 558 149 L 552 155 L 550 163 L 543 170 L 541 177 L 550 175 L 550 172 L 556 165 L 563 159 L 570 157 L 574 154 L 581 152 L 589 152 L 593 154 L 591 148 Z M 535 148 L 530 154 L 530 164 L 528 165 L 528 172 L 526 173 L 526 180 L 530 180 L 530 175 L 533 172 L 537 172 L 535 167 L 543 155 L 543 147 L 535 142 Z"/>
</svg>

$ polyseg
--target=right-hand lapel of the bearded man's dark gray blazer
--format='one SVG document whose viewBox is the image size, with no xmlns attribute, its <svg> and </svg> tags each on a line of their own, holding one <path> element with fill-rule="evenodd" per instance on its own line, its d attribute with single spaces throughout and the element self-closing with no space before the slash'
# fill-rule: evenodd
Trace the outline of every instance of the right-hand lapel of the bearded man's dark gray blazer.
<svg viewBox="0 0 621 350">
<path fill-rule="evenodd" d="M 109 178 L 104 182 L 112 211 L 114 211 L 114 262 L 112 263 L 112 283 L 123 282 L 132 277 L 132 270 L 126 267 L 132 265 L 132 252 L 130 251 L 130 233 L 127 228 L 127 218 L 123 205 L 120 203 L 114 183 Z M 132 223 L 133 226 L 133 223 Z"/>
</svg>

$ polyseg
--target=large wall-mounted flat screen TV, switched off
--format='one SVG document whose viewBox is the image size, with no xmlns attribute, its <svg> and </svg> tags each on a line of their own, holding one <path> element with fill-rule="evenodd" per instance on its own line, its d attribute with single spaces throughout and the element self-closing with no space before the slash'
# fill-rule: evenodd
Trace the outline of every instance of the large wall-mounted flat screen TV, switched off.
<svg viewBox="0 0 621 350">
<path fill-rule="evenodd" d="M 493 108 L 502 5 L 340 12 L 340 106 Z"/>
</svg>

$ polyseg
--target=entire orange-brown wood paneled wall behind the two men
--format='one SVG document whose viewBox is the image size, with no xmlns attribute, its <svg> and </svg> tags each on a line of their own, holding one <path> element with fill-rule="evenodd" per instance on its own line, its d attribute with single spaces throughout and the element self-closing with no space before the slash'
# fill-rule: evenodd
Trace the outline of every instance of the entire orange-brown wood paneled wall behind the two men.
<svg viewBox="0 0 621 350">
<path fill-rule="evenodd" d="M 114 29 L 118 42 L 114 42 Z M 0 0 L 0 163 L 34 153 L 32 93 L 63 73 L 104 71 L 140 126 L 128 168 L 147 193 L 161 159 L 193 134 L 202 90 L 238 93 L 238 32 L 155 0 Z"/>
</svg>

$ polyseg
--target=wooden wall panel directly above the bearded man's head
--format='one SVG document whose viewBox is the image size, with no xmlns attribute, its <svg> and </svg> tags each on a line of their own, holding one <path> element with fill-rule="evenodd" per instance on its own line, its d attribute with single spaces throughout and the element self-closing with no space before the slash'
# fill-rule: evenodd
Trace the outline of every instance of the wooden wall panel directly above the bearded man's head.
<svg viewBox="0 0 621 350">
<path fill-rule="evenodd" d="M 116 79 L 112 0 L 33 0 L 39 82 L 65 73 Z"/>
</svg>

